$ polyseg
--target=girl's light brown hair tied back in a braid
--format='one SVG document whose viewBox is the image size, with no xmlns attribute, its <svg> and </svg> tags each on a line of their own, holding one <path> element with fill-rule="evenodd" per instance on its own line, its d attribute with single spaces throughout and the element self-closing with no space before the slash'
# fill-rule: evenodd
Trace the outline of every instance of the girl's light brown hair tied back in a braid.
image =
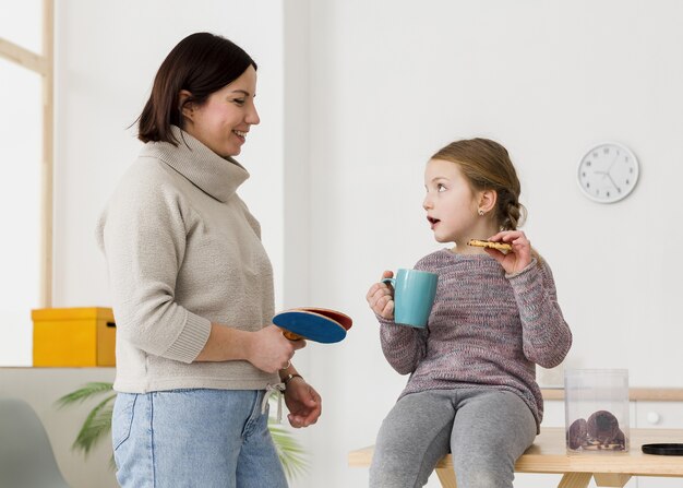
<svg viewBox="0 0 683 488">
<path fill-rule="evenodd" d="M 507 150 L 489 139 L 466 139 L 439 150 L 432 159 L 457 164 L 475 191 L 495 190 L 495 218 L 501 230 L 516 230 L 526 218 L 522 186 Z"/>
</svg>

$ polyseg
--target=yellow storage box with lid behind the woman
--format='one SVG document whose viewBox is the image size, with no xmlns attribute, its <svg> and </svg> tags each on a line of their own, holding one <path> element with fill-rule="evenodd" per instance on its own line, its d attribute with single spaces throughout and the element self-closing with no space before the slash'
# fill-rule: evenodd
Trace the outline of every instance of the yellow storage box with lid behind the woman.
<svg viewBox="0 0 683 488">
<path fill-rule="evenodd" d="M 115 366 L 116 324 L 110 308 L 33 310 L 33 366 Z"/>
</svg>

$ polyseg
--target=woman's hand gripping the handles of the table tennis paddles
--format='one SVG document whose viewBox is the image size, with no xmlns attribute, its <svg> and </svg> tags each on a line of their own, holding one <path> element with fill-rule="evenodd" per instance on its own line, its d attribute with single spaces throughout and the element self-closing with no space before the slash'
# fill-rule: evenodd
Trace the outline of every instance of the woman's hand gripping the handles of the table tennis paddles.
<svg viewBox="0 0 683 488">
<path fill-rule="evenodd" d="M 254 341 L 247 359 L 265 372 L 277 372 L 286 369 L 297 349 L 305 347 L 305 341 L 289 341 L 277 325 L 268 325 L 253 332 Z"/>
</svg>

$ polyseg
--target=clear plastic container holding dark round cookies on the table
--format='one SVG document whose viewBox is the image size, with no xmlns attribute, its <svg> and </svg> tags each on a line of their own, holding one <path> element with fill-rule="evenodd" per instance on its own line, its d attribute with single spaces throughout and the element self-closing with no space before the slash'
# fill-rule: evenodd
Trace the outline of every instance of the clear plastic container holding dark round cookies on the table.
<svg viewBox="0 0 683 488">
<path fill-rule="evenodd" d="M 567 452 L 628 451 L 628 370 L 565 370 L 564 410 Z"/>
</svg>

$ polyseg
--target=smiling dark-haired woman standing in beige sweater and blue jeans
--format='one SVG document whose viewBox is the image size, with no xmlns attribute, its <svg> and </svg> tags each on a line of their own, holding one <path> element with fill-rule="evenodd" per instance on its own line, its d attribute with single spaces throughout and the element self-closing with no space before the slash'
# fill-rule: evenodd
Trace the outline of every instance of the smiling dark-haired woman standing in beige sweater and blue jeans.
<svg viewBox="0 0 683 488">
<path fill-rule="evenodd" d="M 228 39 L 182 39 L 139 119 L 145 143 L 98 225 L 117 321 L 112 416 L 123 487 L 286 487 L 267 430 L 285 390 L 293 427 L 321 398 L 272 324 L 273 271 L 237 194 L 256 63 Z M 283 383 L 285 386 L 283 386 Z"/>
</svg>

